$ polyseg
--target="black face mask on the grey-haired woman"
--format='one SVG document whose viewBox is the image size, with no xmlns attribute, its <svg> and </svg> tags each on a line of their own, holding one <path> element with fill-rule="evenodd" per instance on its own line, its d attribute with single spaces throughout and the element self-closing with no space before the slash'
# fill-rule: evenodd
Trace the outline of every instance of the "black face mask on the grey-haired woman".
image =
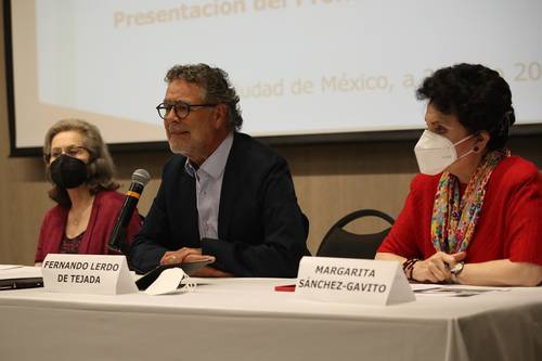
<svg viewBox="0 0 542 361">
<path fill-rule="evenodd" d="M 87 164 L 62 154 L 51 163 L 51 179 L 59 188 L 77 188 L 87 180 Z"/>
</svg>

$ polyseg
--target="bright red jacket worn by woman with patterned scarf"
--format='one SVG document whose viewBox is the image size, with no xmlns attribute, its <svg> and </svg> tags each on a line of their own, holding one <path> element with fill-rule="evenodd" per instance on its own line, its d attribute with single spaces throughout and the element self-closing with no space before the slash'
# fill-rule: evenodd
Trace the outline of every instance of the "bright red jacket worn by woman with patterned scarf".
<svg viewBox="0 0 542 361">
<path fill-rule="evenodd" d="M 418 175 L 403 210 L 378 248 L 405 258 L 427 259 L 436 253 L 430 221 L 440 175 Z M 491 173 L 467 262 L 509 259 L 542 266 L 542 176 L 516 156 Z"/>
</svg>

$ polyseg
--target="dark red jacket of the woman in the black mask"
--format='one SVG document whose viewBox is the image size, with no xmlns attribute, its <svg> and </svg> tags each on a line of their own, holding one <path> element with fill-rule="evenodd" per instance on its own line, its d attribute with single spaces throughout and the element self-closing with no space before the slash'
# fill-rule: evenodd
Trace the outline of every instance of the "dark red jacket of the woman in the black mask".
<svg viewBox="0 0 542 361">
<path fill-rule="evenodd" d="M 125 196 L 115 191 L 99 192 L 92 204 L 89 224 L 79 247 L 79 254 L 107 255 L 107 241 L 113 232 Z M 41 262 L 48 254 L 59 253 L 60 244 L 66 228 L 69 208 L 56 205 L 43 218 L 39 234 L 35 260 Z M 136 210 L 128 224 L 127 241 L 131 243 L 141 228 L 141 219 Z"/>
</svg>

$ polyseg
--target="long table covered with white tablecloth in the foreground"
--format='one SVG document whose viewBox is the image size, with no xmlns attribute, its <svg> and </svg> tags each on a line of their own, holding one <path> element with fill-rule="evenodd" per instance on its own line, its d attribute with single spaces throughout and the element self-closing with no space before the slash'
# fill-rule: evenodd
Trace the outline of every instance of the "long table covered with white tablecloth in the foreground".
<svg viewBox="0 0 542 361">
<path fill-rule="evenodd" d="M 195 279 L 193 293 L 0 292 L 0 360 L 542 360 L 542 287 L 395 306 Z"/>
</svg>

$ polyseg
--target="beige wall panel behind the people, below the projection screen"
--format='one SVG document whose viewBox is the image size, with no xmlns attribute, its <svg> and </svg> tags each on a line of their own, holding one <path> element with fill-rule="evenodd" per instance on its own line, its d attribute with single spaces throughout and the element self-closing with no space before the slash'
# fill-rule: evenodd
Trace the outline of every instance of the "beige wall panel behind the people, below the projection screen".
<svg viewBox="0 0 542 361">
<path fill-rule="evenodd" d="M 2 10 L 0 9 L 0 12 Z M 3 39 L 3 17 L 0 16 Z M 39 157 L 10 158 L 3 41 L 0 42 L 0 263 L 34 262 L 41 219 L 53 203 L 48 198 L 43 164 Z M 414 99 L 413 99 L 414 101 Z M 246 119 L 250 121 L 250 119 Z M 511 141 L 515 154 L 542 166 L 542 136 Z M 360 208 L 376 208 L 397 217 L 416 172 L 414 142 L 365 142 L 276 146 L 289 163 L 301 208 L 310 219 L 309 248 L 315 253 L 328 228 Z M 137 168 L 147 169 L 153 180 L 139 204 L 149 211 L 159 186 L 162 166 L 170 156 L 163 152 L 113 154 L 121 191 Z M 384 222 L 356 223 L 354 231 L 376 231 Z"/>
</svg>

